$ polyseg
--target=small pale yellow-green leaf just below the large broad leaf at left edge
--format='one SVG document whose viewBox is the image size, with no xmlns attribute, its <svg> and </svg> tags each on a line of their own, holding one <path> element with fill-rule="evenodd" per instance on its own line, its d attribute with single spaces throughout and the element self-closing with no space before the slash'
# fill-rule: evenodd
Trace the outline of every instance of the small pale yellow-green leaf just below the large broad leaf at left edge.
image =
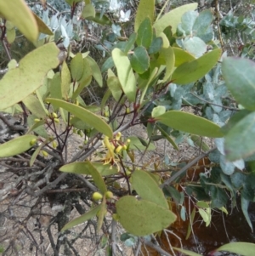
<svg viewBox="0 0 255 256">
<path fill-rule="evenodd" d="M 40 103 L 40 101 L 37 99 L 36 96 L 34 96 L 33 94 L 30 94 L 22 101 L 26 105 L 27 109 L 31 111 L 33 115 L 42 119 L 46 117 L 47 112 L 42 107 L 42 104 Z"/>
</svg>

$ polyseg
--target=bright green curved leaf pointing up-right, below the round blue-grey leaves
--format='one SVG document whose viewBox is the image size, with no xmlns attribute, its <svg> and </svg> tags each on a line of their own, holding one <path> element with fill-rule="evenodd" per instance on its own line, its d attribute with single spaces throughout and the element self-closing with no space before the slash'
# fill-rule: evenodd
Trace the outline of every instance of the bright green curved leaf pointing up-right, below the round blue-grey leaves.
<svg viewBox="0 0 255 256">
<path fill-rule="evenodd" d="M 182 65 L 179 65 L 175 71 L 173 71 L 171 80 L 178 84 L 195 82 L 196 80 L 205 76 L 207 72 L 217 64 L 220 54 L 221 49 L 218 48 L 204 54 L 197 60 L 184 62 Z"/>
</svg>

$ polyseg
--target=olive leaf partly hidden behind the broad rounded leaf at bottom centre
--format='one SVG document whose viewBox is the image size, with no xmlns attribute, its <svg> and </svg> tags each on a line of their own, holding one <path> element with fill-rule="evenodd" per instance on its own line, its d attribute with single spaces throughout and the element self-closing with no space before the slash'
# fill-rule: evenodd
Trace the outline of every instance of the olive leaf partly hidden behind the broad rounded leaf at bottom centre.
<svg viewBox="0 0 255 256">
<path fill-rule="evenodd" d="M 141 196 L 142 199 L 150 202 L 154 202 L 162 208 L 168 209 L 167 200 L 156 183 L 155 179 L 150 177 L 145 171 L 136 170 L 132 174 L 131 183 L 133 189 Z"/>
</svg>

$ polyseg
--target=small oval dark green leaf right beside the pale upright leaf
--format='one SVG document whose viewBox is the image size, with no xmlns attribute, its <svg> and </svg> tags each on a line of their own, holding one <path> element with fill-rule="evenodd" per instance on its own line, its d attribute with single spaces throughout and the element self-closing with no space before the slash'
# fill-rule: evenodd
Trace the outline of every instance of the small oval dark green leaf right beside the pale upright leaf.
<svg viewBox="0 0 255 256">
<path fill-rule="evenodd" d="M 133 70 L 139 74 L 143 74 L 148 70 L 150 59 L 146 49 L 143 46 L 139 46 L 134 49 L 130 58 L 130 63 L 133 67 Z"/>
</svg>

